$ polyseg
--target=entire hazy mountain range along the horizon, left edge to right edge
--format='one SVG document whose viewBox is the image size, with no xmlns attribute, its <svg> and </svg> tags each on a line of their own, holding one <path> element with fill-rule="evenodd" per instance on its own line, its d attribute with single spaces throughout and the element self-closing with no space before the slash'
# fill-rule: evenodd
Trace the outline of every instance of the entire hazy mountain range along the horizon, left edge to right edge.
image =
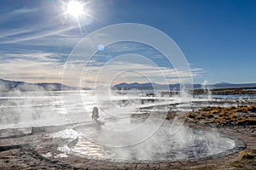
<svg viewBox="0 0 256 170">
<path fill-rule="evenodd" d="M 139 90 L 179 90 L 180 84 L 169 84 L 163 85 L 158 83 L 126 83 L 122 82 L 117 85 L 114 85 L 115 89 L 139 89 Z M 201 84 L 193 84 L 194 89 L 201 88 L 256 88 L 256 83 L 241 83 L 235 84 L 230 82 L 218 82 L 216 84 L 210 85 L 201 85 Z M 30 82 L 16 82 L 0 79 L 0 92 L 9 92 L 9 91 L 60 91 L 60 90 L 78 90 L 81 88 L 71 87 L 67 85 L 62 85 L 61 83 L 30 83 Z M 90 88 L 82 88 L 84 90 L 89 90 Z"/>
</svg>

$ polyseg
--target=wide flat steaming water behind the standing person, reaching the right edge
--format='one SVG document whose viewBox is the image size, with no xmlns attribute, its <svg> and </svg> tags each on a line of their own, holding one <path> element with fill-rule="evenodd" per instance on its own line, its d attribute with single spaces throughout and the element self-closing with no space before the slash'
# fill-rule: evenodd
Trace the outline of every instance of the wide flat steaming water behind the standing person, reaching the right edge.
<svg viewBox="0 0 256 170">
<path fill-rule="evenodd" d="M 90 114 L 96 103 L 95 94 L 92 91 L 66 91 L 63 92 L 67 96 L 63 102 L 61 92 L 14 92 L 0 93 L 0 129 L 9 127 L 32 127 L 45 125 L 61 125 L 69 122 L 90 122 Z M 205 105 L 221 105 L 219 101 L 223 101 L 223 96 L 217 96 L 218 99 L 201 98 L 195 96 L 193 99 L 194 107 L 199 108 Z M 76 98 L 81 98 L 79 103 Z M 228 100 L 237 99 L 237 96 L 229 96 Z M 255 98 L 239 98 L 241 101 L 245 99 L 255 100 Z M 154 100 L 154 102 L 151 102 Z M 100 115 L 102 120 L 112 116 L 128 116 L 131 113 L 147 111 L 166 111 L 167 105 L 178 103 L 176 97 L 142 97 L 136 94 L 116 95 L 109 101 L 108 98 L 102 99 Z M 212 102 L 212 103 L 211 103 Z M 122 113 L 114 110 L 115 106 L 122 108 Z M 230 102 L 225 106 L 235 105 Z M 150 108 L 150 106 L 154 106 Z M 181 105 L 180 105 L 181 106 Z M 221 105 L 223 106 L 223 105 Z M 149 107 L 149 109 L 148 109 Z M 180 110 L 186 108 L 177 107 Z M 170 109 L 170 108 L 169 108 Z M 107 114 L 104 114 L 107 113 Z"/>
</svg>

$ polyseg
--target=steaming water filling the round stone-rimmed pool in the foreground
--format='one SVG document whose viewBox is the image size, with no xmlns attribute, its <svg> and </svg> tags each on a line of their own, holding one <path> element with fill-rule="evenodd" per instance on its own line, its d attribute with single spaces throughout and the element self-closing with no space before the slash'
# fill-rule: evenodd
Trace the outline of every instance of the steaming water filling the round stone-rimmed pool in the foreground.
<svg viewBox="0 0 256 170">
<path fill-rule="evenodd" d="M 170 122 L 145 139 L 140 144 L 129 147 L 113 148 L 97 144 L 101 139 L 103 128 L 86 127 L 86 138 L 79 136 L 79 142 L 69 152 L 86 158 L 109 161 L 180 161 L 217 155 L 235 146 L 232 139 L 219 133 L 195 130 L 189 127 L 180 128 L 170 134 Z M 140 132 L 138 132 L 140 133 Z M 111 134 L 104 142 L 111 142 Z M 127 138 L 129 140 L 129 138 Z"/>
</svg>

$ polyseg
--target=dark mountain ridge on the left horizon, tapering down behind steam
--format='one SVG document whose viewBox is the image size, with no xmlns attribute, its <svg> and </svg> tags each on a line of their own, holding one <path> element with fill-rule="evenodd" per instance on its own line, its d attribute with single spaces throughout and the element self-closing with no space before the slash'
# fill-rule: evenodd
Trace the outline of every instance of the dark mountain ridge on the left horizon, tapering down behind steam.
<svg viewBox="0 0 256 170">
<path fill-rule="evenodd" d="M 62 85 L 61 83 L 30 83 L 30 82 L 16 82 L 0 79 L 0 92 L 9 91 L 60 91 L 62 90 L 77 90 L 80 88 Z M 83 88 L 88 89 L 88 88 Z"/>
</svg>

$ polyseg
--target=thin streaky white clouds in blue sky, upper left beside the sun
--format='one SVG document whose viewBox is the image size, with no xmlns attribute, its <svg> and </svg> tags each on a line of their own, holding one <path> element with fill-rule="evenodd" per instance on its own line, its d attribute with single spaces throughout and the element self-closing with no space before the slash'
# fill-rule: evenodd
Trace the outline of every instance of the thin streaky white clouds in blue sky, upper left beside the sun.
<svg viewBox="0 0 256 170">
<path fill-rule="evenodd" d="M 65 39 L 66 43 L 70 42 L 68 40 L 81 37 L 81 34 L 77 33 L 81 30 L 75 20 L 65 19 L 60 8 L 54 11 L 50 8 L 55 7 L 17 8 L 1 14 L 0 21 L 3 26 L 8 26 L 8 29 L 0 28 L 0 44 L 25 42 L 33 45 L 38 40 L 41 45 L 43 42 L 47 45 L 47 42 L 52 41 L 50 37 Z M 49 38 L 49 40 L 44 38 Z"/>
</svg>

